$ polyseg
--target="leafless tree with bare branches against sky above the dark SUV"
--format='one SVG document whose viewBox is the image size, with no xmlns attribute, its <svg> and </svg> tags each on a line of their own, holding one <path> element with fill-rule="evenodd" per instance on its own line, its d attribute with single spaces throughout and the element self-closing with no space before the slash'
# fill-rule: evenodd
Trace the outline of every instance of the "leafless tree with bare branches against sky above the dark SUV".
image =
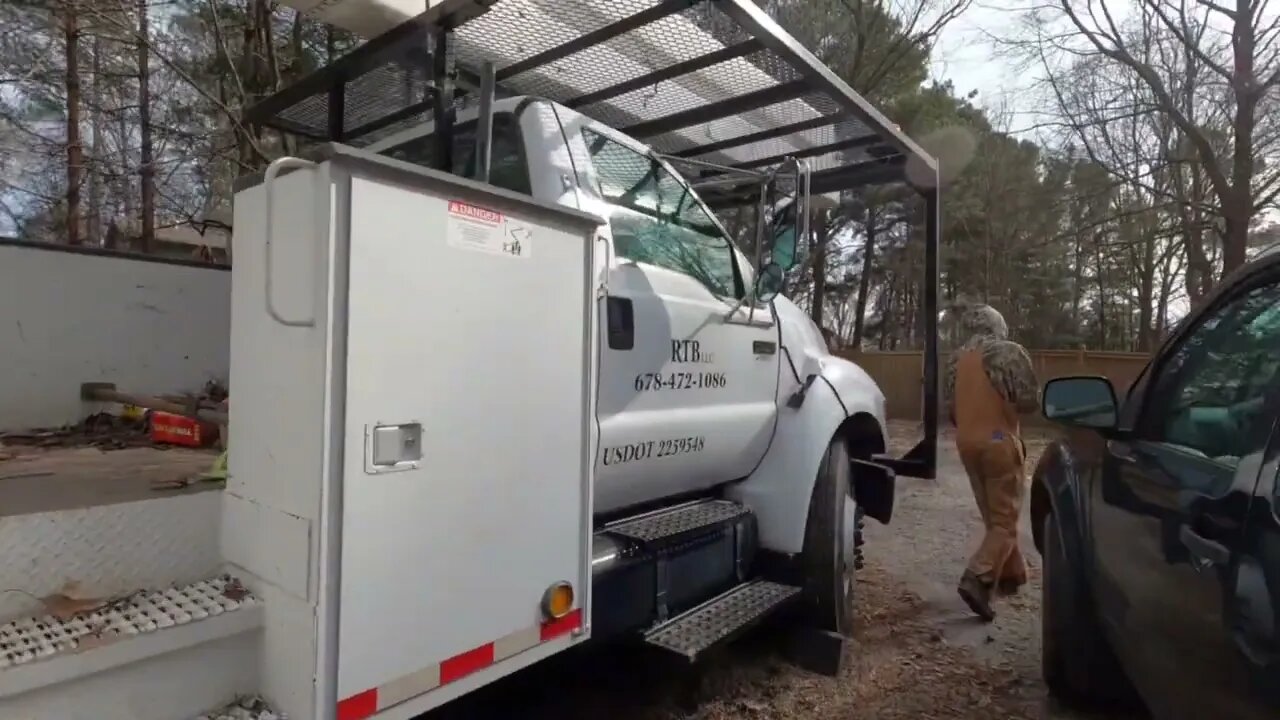
<svg viewBox="0 0 1280 720">
<path fill-rule="evenodd" d="M 1267 110 L 1280 83 L 1280 19 L 1265 17 L 1266 5 L 1056 0 L 1033 17 L 1042 56 L 1071 58 L 1074 67 L 1097 59 L 1092 67 L 1098 77 L 1121 74 L 1137 86 L 1128 95 L 1133 111 L 1167 118 L 1176 131 L 1172 146 L 1180 151 L 1172 168 L 1180 182 L 1167 190 L 1180 202 L 1185 232 L 1199 233 L 1207 209 L 1197 196 L 1197 176 L 1203 173 L 1208 210 L 1220 220 L 1213 229 L 1224 273 L 1244 263 L 1254 219 L 1275 206 L 1280 192 L 1280 170 L 1266 161 L 1276 152 L 1276 120 Z M 1043 67 L 1051 76 L 1061 70 L 1048 61 Z M 1080 115 L 1068 114 L 1084 124 Z M 1192 237 L 1188 272 L 1197 296 L 1206 286 L 1199 278 L 1206 272 L 1202 250 L 1199 236 Z"/>
</svg>

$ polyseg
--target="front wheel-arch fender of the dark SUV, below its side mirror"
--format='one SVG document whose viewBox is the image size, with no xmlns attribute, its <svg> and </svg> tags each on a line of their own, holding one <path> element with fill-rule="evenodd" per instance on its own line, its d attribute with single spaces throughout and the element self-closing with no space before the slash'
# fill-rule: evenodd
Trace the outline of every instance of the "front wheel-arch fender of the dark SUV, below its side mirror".
<svg viewBox="0 0 1280 720">
<path fill-rule="evenodd" d="M 1074 570 L 1083 574 L 1085 514 L 1078 468 L 1080 464 L 1073 457 L 1066 442 L 1057 439 L 1044 448 L 1032 473 L 1030 518 L 1036 550 L 1043 555 L 1044 518 L 1053 512 L 1066 556 Z"/>
</svg>

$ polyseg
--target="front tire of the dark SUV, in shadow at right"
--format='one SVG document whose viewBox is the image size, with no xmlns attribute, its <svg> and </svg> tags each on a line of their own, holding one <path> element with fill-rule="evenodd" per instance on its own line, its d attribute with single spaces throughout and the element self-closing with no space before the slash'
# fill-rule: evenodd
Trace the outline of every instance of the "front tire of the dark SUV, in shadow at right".
<svg viewBox="0 0 1280 720">
<path fill-rule="evenodd" d="M 1041 664 L 1044 684 L 1079 710 L 1133 707 L 1137 694 L 1102 635 L 1093 603 L 1074 573 L 1052 512 L 1044 515 Z"/>
</svg>

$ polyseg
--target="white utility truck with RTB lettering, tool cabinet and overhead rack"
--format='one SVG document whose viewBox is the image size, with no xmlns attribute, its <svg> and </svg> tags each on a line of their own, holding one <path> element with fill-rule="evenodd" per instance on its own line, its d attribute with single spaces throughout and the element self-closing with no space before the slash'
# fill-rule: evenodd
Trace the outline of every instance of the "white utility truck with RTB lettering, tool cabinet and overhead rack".
<svg viewBox="0 0 1280 720">
<path fill-rule="evenodd" d="M 0 717 L 407 719 L 785 609 L 831 670 L 861 516 L 932 477 L 937 354 L 886 457 L 778 291 L 812 193 L 911 179 L 936 337 L 933 160 L 750 0 L 291 4 L 376 37 L 248 114 L 315 142 L 237 184 L 225 489 L 93 520 L 218 573 L 0 626 Z"/>
</svg>

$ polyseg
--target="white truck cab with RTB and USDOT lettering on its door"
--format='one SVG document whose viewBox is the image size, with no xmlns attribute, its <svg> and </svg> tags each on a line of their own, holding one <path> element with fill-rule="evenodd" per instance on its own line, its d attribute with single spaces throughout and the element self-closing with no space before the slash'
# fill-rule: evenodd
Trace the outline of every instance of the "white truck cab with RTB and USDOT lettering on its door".
<svg viewBox="0 0 1280 720">
<path fill-rule="evenodd" d="M 453 135 L 453 172 L 462 177 L 475 174 L 476 114 L 474 106 L 461 113 Z M 424 167 L 433 149 L 430 124 L 369 147 Z M 831 368 L 865 416 L 863 427 L 874 429 L 863 442 L 883 443 L 879 388 L 827 352 L 814 323 L 778 288 L 756 287 L 751 259 L 669 161 L 536 97 L 495 102 L 490 161 L 492 184 L 607 220 L 595 259 L 607 299 L 599 315 L 596 515 L 750 478 L 797 389 L 800 365 L 809 370 L 801 377 L 814 363 Z M 780 234 L 768 238 L 771 252 L 794 259 L 795 228 L 771 232 Z M 780 240 L 786 247 L 777 247 Z"/>
</svg>

